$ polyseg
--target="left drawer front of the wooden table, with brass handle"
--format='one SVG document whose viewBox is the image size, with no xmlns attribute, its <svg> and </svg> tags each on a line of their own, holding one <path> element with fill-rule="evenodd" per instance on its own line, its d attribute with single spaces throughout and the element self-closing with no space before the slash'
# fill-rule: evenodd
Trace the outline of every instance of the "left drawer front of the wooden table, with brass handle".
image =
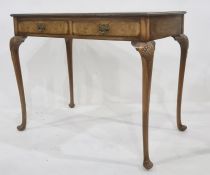
<svg viewBox="0 0 210 175">
<path fill-rule="evenodd" d="M 18 32 L 29 34 L 67 34 L 68 21 L 19 21 Z"/>
</svg>

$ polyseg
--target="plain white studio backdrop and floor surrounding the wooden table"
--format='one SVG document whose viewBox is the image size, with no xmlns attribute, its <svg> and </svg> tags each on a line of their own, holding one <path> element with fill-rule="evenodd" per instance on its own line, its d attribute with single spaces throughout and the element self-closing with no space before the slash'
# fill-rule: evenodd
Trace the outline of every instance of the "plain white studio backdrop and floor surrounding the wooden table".
<svg viewBox="0 0 210 175">
<path fill-rule="evenodd" d="M 209 174 L 210 12 L 208 0 L 1 0 L 0 174 Z M 130 42 L 74 40 L 75 109 L 69 109 L 63 39 L 21 45 L 28 125 L 16 131 L 20 103 L 9 52 L 11 13 L 186 10 L 190 47 L 183 94 L 185 133 L 176 129 L 180 49 L 158 40 L 153 68 L 150 154 L 142 167 L 141 59 Z"/>
</svg>

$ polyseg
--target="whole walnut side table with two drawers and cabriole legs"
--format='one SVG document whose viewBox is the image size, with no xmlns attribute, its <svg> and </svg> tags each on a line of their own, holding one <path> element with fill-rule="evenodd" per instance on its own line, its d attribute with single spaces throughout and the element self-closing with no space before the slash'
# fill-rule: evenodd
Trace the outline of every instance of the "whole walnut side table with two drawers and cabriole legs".
<svg viewBox="0 0 210 175">
<path fill-rule="evenodd" d="M 148 148 L 149 102 L 152 78 L 153 56 L 156 39 L 173 37 L 181 47 L 181 62 L 177 96 L 177 127 L 184 131 L 187 127 L 181 122 L 181 100 L 185 63 L 188 49 L 187 36 L 183 34 L 185 12 L 154 13 L 70 13 L 70 14 L 12 14 L 15 36 L 10 40 L 12 61 L 15 69 L 20 102 L 22 123 L 26 127 L 26 103 L 19 61 L 19 46 L 28 36 L 64 38 L 67 50 L 69 73 L 70 104 L 74 107 L 72 39 L 101 39 L 131 41 L 140 53 L 143 71 L 143 149 L 144 167 L 152 168 Z"/>
</svg>

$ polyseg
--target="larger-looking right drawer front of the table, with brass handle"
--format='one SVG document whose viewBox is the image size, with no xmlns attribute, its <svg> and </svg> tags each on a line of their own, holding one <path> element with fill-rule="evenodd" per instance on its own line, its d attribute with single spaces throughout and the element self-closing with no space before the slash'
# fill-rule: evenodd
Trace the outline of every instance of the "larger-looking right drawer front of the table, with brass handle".
<svg viewBox="0 0 210 175">
<path fill-rule="evenodd" d="M 134 20 L 80 20 L 73 21 L 73 35 L 138 36 L 140 22 Z"/>
</svg>

